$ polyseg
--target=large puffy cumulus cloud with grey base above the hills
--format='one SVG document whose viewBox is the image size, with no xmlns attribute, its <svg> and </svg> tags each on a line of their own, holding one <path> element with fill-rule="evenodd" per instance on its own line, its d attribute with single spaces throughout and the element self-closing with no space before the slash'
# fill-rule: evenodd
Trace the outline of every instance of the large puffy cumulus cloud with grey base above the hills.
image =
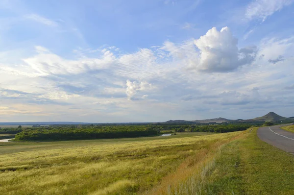
<svg viewBox="0 0 294 195">
<path fill-rule="evenodd" d="M 213 27 L 195 40 L 200 55 L 191 68 L 203 72 L 229 72 L 250 64 L 254 59 L 254 48 L 239 50 L 237 44 L 238 39 L 233 37 L 228 27 L 223 27 L 221 31 Z"/>
</svg>

